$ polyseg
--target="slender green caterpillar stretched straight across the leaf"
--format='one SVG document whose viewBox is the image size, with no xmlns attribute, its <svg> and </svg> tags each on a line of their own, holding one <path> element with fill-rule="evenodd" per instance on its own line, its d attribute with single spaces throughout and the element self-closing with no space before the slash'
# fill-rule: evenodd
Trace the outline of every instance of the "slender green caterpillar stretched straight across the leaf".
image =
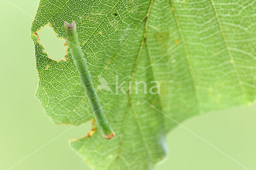
<svg viewBox="0 0 256 170">
<path fill-rule="evenodd" d="M 78 41 L 78 36 L 76 33 L 76 23 L 75 21 L 72 21 L 72 23 L 64 21 L 64 26 L 67 33 L 66 41 L 68 43 L 68 47 L 70 48 L 71 55 L 74 59 L 76 68 L 78 69 L 81 81 L 84 85 L 86 96 L 90 100 L 92 111 L 95 115 L 98 127 L 100 128 L 100 131 L 102 132 L 104 138 L 111 139 L 115 136 L 115 133 L 111 129 L 110 124 L 108 123 L 103 113 L 102 107 L 98 100 L 98 96 L 96 94 L 96 90 L 92 84 L 92 78 L 88 70 L 86 61 L 84 59 L 84 53 L 82 52 L 80 43 Z"/>
</svg>

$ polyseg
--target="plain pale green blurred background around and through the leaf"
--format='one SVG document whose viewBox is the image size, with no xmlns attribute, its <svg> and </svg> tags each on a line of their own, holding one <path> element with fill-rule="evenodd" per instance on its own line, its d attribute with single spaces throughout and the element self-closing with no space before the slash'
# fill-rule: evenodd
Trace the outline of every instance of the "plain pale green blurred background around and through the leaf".
<svg viewBox="0 0 256 170">
<path fill-rule="evenodd" d="M 60 135 L 71 126 L 54 125 L 34 97 L 38 76 L 30 26 L 38 3 L 39 0 L 0 2 L 0 169 L 12 167 L 39 149 L 12 169 L 86 170 L 88 165 L 69 148 L 68 139 L 87 134 L 90 122 Z M 40 43 L 50 57 L 62 59 L 64 40 L 48 28 L 39 31 Z M 256 169 L 255 111 L 256 104 L 234 107 L 193 117 L 182 125 L 252 170 Z M 167 135 L 166 143 L 169 154 L 156 170 L 245 169 L 180 126 Z"/>
</svg>

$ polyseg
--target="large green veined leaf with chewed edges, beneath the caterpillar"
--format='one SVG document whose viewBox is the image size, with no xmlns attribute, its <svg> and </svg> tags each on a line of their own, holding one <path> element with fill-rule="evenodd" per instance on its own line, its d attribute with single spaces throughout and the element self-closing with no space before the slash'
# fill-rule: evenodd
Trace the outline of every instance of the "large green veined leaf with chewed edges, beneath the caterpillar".
<svg viewBox="0 0 256 170">
<path fill-rule="evenodd" d="M 76 21 L 94 86 L 116 137 L 106 140 L 94 127 L 87 136 L 71 140 L 71 147 L 94 169 L 152 168 L 166 156 L 164 136 L 177 124 L 167 116 L 181 122 L 256 98 L 254 4 L 40 0 L 31 28 L 39 75 L 36 98 L 54 123 L 76 125 L 94 119 L 69 49 L 66 60 L 54 61 L 36 35 L 50 23 L 64 39 L 63 22 Z M 118 86 L 124 82 L 122 89 L 116 90 L 117 80 Z M 146 82 L 146 94 L 140 81 Z M 152 81 L 160 84 L 160 94 L 150 94 L 150 88 L 156 90 Z"/>
</svg>

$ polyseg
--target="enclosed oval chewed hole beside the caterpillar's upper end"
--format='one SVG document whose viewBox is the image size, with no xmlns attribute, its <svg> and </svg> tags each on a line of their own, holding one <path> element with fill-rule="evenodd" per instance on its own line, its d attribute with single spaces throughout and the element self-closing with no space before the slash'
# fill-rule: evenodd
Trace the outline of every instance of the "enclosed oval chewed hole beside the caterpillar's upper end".
<svg viewBox="0 0 256 170">
<path fill-rule="evenodd" d="M 46 25 L 37 32 L 39 42 L 44 46 L 44 52 L 54 60 L 65 60 L 66 49 L 65 40 L 57 37 L 50 25 Z"/>
</svg>

